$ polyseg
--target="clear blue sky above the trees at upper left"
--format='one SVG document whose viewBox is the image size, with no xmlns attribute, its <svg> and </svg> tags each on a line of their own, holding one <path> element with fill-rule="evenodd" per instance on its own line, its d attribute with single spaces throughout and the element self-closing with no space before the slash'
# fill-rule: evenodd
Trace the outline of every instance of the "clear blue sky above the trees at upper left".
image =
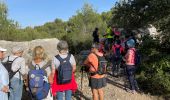
<svg viewBox="0 0 170 100">
<path fill-rule="evenodd" d="M 81 9 L 91 4 L 98 13 L 109 11 L 117 0 L 5 0 L 8 18 L 19 22 L 21 27 L 43 25 L 56 18 L 67 21 Z"/>
</svg>

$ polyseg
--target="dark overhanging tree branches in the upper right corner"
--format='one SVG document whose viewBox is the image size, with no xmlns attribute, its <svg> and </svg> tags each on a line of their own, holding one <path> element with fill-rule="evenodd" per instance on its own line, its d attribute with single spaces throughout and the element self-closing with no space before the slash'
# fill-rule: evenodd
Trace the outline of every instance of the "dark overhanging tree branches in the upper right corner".
<svg viewBox="0 0 170 100">
<path fill-rule="evenodd" d="M 113 20 L 124 28 L 140 28 L 161 21 L 162 27 L 169 24 L 170 2 L 168 0 L 132 0 L 117 3 L 112 9 Z M 166 28 L 167 29 L 167 28 Z M 164 29 L 162 29 L 164 30 Z"/>
</svg>

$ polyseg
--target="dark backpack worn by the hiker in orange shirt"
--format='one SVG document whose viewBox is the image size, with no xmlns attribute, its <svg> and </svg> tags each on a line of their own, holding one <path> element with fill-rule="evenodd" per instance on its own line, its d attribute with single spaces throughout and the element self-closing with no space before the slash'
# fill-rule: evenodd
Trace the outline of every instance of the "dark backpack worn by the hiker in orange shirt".
<svg viewBox="0 0 170 100">
<path fill-rule="evenodd" d="M 96 54 L 95 54 L 96 55 Z M 94 67 L 94 69 L 96 70 L 96 72 L 93 72 L 91 73 L 91 75 L 96 75 L 96 74 L 99 74 L 99 75 L 103 75 L 103 74 L 106 74 L 106 66 L 107 66 L 107 61 L 105 59 L 104 56 L 98 56 L 96 55 L 97 58 L 98 58 L 98 69 L 96 69 L 93 65 L 92 67 Z"/>
</svg>

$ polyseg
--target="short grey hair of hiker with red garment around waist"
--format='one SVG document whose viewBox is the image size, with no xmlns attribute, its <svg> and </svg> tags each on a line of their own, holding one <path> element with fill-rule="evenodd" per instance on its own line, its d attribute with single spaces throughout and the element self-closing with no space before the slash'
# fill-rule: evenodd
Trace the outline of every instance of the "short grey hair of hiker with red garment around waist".
<svg viewBox="0 0 170 100">
<path fill-rule="evenodd" d="M 58 44 L 57 44 L 57 49 L 59 52 L 68 51 L 68 43 L 64 40 L 61 40 Z"/>
</svg>

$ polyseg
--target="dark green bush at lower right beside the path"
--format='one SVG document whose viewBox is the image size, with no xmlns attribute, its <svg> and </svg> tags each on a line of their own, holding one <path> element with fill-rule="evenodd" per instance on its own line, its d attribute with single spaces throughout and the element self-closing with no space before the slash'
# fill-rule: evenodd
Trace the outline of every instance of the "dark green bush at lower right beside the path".
<svg viewBox="0 0 170 100">
<path fill-rule="evenodd" d="M 140 48 L 143 61 L 140 67 L 138 81 L 140 87 L 152 94 L 170 93 L 170 55 L 162 51 L 159 40 L 144 37 L 143 46 Z"/>
</svg>

